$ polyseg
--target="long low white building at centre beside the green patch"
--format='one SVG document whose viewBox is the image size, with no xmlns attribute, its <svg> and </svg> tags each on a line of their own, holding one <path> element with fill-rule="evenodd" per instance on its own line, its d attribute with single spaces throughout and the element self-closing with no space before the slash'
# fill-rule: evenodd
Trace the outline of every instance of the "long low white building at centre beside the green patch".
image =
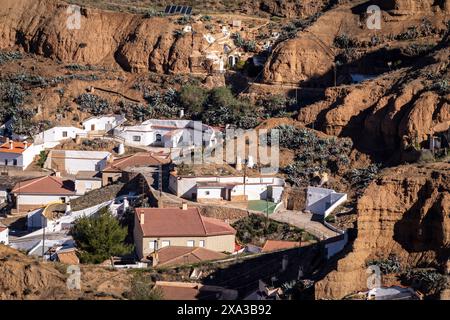
<svg viewBox="0 0 450 320">
<path fill-rule="evenodd" d="M 270 199 L 281 201 L 285 181 L 274 176 L 179 176 L 172 172 L 169 189 L 179 197 L 199 202 Z"/>
</svg>

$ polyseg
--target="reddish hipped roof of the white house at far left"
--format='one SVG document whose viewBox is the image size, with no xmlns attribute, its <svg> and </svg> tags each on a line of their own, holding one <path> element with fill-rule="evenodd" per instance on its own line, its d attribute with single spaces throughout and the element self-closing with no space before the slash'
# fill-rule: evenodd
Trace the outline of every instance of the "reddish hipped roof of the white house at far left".
<svg viewBox="0 0 450 320">
<path fill-rule="evenodd" d="M 75 186 L 71 180 L 62 180 L 55 176 L 44 176 L 17 183 L 12 193 L 73 195 Z"/>
</svg>

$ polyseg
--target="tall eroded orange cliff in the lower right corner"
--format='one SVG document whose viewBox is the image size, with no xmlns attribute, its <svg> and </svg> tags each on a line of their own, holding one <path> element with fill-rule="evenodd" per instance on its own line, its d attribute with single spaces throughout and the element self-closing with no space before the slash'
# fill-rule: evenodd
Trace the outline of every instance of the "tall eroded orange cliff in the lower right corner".
<svg viewBox="0 0 450 320">
<path fill-rule="evenodd" d="M 366 263 L 390 254 L 403 266 L 446 268 L 450 164 L 388 169 L 358 200 L 357 213 L 358 235 L 352 251 L 316 283 L 317 299 L 340 299 L 367 290 Z"/>
</svg>

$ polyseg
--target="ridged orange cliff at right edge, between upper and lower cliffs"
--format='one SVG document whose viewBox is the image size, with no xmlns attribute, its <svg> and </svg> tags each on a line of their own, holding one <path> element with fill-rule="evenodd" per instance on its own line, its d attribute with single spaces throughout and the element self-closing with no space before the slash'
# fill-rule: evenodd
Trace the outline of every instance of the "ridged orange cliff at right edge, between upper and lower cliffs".
<svg viewBox="0 0 450 320">
<path fill-rule="evenodd" d="M 443 48 L 425 66 L 330 88 L 325 100 L 300 109 L 298 120 L 330 135 L 350 136 L 366 152 L 382 150 L 400 159 L 408 147 L 450 127 L 450 95 L 430 89 L 450 77 L 449 54 Z"/>
</svg>

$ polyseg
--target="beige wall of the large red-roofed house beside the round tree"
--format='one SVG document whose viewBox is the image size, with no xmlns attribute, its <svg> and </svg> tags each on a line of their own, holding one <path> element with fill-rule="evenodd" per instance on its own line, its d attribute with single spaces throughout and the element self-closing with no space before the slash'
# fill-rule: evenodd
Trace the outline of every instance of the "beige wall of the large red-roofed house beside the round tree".
<svg viewBox="0 0 450 320">
<path fill-rule="evenodd" d="M 170 241 L 171 246 L 186 247 L 187 242 L 189 240 L 194 240 L 194 246 L 198 247 L 200 240 L 204 240 L 206 249 L 217 252 L 230 252 L 230 253 L 234 251 L 234 244 L 235 244 L 234 234 L 211 236 L 211 237 L 160 237 L 160 238 L 145 237 L 144 240 L 142 241 L 142 250 L 143 250 L 142 256 L 145 257 L 153 252 L 153 250 L 150 249 L 150 243 L 154 242 L 155 240 L 158 242 L 158 248 L 161 248 L 163 241 Z"/>
</svg>

